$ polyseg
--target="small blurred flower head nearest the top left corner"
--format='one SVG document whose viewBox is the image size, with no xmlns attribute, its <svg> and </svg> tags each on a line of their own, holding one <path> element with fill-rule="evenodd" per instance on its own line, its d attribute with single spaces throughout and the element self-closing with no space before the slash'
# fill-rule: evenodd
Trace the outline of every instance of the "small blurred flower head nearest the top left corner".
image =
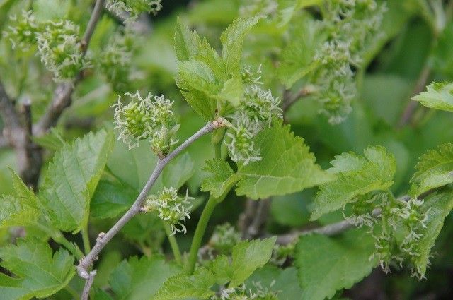
<svg viewBox="0 0 453 300">
<path fill-rule="evenodd" d="M 13 49 L 28 51 L 30 46 L 36 43 L 36 32 L 40 29 L 33 16 L 33 11 L 22 11 L 20 17 L 14 15 L 10 17 L 10 20 L 11 25 L 4 32 L 4 36 L 8 37 Z"/>
</svg>

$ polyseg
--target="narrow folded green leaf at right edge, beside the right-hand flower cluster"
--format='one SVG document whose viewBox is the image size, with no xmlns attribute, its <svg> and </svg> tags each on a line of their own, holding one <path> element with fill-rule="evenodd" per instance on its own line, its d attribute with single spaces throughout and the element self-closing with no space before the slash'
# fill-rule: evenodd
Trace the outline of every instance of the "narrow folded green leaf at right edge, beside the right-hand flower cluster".
<svg viewBox="0 0 453 300">
<path fill-rule="evenodd" d="M 425 211 L 428 210 L 427 228 L 423 229 L 423 236 L 417 242 L 418 253 L 420 255 L 415 258 L 415 267 L 421 277 L 425 275 L 431 248 L 434 246 L 437 236 L 444 226 L 445 217 L 453 209 L 452 190 L 430 195 L 425 199 L 422 208 Z"/>
</svg>

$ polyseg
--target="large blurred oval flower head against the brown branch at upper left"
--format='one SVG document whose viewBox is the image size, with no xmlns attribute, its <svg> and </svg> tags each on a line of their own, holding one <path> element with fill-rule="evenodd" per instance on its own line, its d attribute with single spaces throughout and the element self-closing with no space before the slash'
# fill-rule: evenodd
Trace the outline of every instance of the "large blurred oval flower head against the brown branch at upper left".
<svg viewBox="0 0 453 300">
<path fill-rule="evenodd" d="M 42 32 L 36 33 L 38 52 L 54 80 L 70 80 L 88 66 L 82 54 L 78 25 L 60 20 L 47 22 L 43 28 Z"/>
</svg>

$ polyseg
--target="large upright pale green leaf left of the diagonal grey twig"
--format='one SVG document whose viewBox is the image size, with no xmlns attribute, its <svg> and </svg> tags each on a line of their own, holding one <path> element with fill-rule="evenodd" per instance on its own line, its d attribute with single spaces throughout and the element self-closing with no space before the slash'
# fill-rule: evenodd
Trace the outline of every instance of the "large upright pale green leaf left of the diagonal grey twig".
<svg viewBox="0 0 453 300">
<path fill-rule="evenodd" d="M 76 139 L 55 154 L 39 195 L 55 227 L 77 232 L 88 222 L 90 200 L 113 145 L 113 132 L 101 130 Z"/>
</svg>

